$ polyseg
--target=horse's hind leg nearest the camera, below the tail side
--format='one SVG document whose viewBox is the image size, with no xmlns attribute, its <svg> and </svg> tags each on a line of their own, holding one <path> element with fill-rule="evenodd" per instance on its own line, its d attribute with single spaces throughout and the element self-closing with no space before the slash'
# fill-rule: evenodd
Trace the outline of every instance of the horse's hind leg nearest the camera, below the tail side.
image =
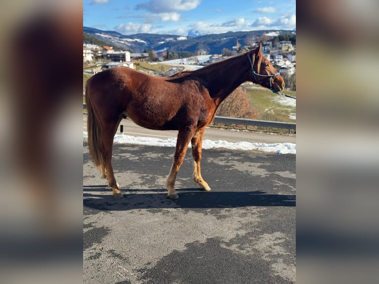
<svg viewBox="0 0 379 284">
<path fill-rule="evenodd" d="M 107 127 L 103 127 L 102 131 L 102 142 L 103 142 L 103 159 L 104 159 L 104 169 L 103 177 L 108 180 L 108 185 L 113 191 L 114 198 L 123 198 L 122 191 L 114 177 L 113 167 L 112 167 L 112 150 L 113 150 L 113 138 L 117 132 L 117 126 L 120 123 L 121 118 L 115 122 L 109 123 Z"/>
</svg>

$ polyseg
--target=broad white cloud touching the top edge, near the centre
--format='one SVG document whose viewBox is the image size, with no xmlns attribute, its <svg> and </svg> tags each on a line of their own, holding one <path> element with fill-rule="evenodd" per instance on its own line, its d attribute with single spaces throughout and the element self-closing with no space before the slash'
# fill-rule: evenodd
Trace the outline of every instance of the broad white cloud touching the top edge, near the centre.
<svg viewBox="0 0 379 284">
<path fill-rule="evenodd" d="M 153 13 L 189 11 L 196 8 L 201 0 L 149 0 L 136 5 L 136 9 L 144 9 Z"/>
</svg>

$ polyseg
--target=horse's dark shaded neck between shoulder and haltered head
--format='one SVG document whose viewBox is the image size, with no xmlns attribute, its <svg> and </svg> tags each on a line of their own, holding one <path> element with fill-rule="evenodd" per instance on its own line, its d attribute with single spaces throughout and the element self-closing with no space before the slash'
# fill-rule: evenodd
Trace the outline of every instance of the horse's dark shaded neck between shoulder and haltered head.
<svg viewBox="0 0 379 284">
<path fill-rule="evenodd" d="M 239 85 L 248 80 L 248 66 L 243 57 L 231 58 L 207 70 L 206 86 L 215 103 L 220 104 Z M 201 70 L 201 69 L 200 69 Z"/>
</svg>

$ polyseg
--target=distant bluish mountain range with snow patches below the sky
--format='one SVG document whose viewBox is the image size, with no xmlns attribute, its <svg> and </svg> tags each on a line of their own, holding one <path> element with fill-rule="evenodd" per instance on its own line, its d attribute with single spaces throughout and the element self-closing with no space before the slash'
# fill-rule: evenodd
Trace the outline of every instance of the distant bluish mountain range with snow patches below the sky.
<svg viewBox="0 0 379 284">
<path fill-rule="evenodd" d="M 228 32 L 224 34 L 199 35 L 197 31 L 191 31 L 189 36 L 159 35 L 159 34 L 135 34 L 122 35 L 115 31 L 102 31 L 95 28 L 83 27 L 83 33 L 101 40 L 106 45 L 132 52 L 143 52 L 146 49 L 164 50 L 175 52 L 188 51 L 196 53 L 203 49 L 208 54 L 220 54 L 223 48 L 231 49 L 238 44 L 246 45 L 254 42 L 256 37 L 268 34 L 270 37 L 278 35 L 295 35 L 296 31 L 290 30 L 262 30 L 245 32 Z"/>
</svg>

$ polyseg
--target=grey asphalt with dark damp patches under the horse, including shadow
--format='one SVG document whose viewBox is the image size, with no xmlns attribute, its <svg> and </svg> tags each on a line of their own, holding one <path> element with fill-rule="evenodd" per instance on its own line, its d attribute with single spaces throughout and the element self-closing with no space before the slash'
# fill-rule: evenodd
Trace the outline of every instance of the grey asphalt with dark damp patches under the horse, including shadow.
<svg viewBox="0 0 379 284">
<path fill-rule="evenodd" d="M 296 156 L 205 149 L 206 192 L 189 151 L 171 200 L 173 152 L 114 144 L 114 199 L 84 142 L 83 283 L 295 283 Z"/>
</svg>

